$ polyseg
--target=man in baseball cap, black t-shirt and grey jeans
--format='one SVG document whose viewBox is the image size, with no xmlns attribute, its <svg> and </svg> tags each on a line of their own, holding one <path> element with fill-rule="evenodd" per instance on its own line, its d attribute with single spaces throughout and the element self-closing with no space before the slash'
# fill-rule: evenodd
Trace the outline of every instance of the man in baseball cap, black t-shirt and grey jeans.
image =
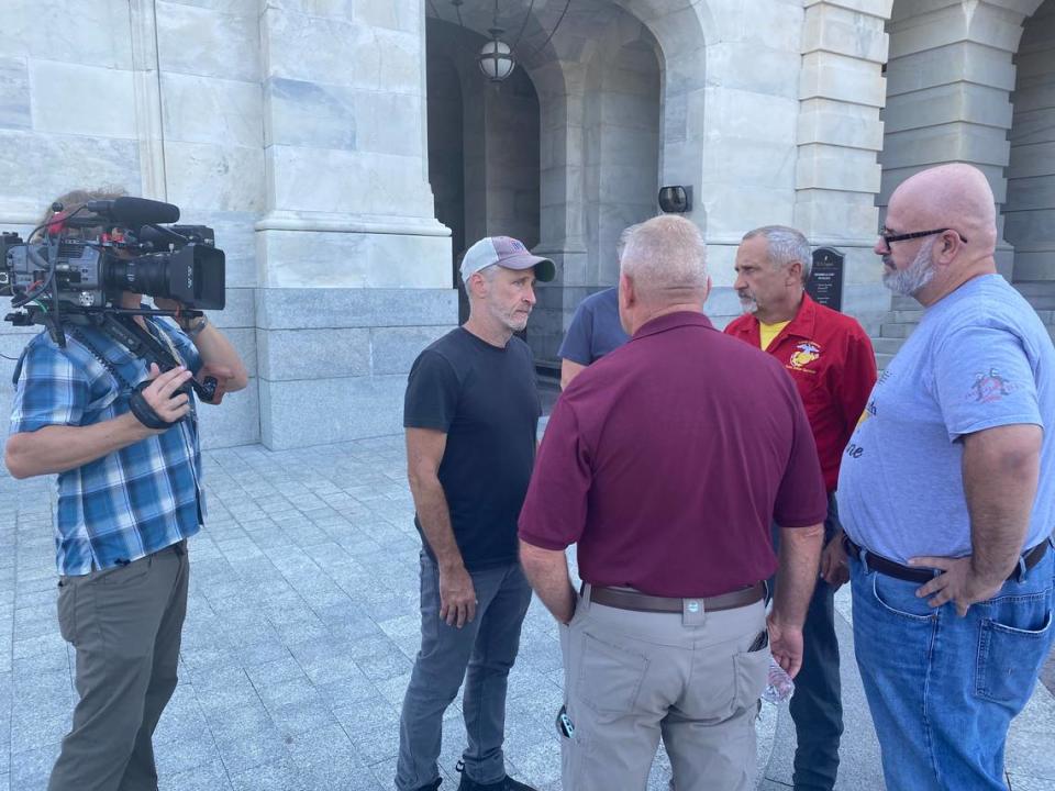
<svg viewBox="0 0 1055 791">
<path fill-rule="evenodd" d="M 532 791 L 506 773 L 506 687 L 531 587 L 517 517 L 535 460 L 542 402 L 528 326 L 536 280 L 553 261 L 493 236 L 462 260 L 463 326 L 414 361 L 403 426 L 421 533 L 421 650 L 403 699 L 399 791 L 434 791 L 443 714 L 463 678 L 467 746 L 459 791 Z"/>
</svg>

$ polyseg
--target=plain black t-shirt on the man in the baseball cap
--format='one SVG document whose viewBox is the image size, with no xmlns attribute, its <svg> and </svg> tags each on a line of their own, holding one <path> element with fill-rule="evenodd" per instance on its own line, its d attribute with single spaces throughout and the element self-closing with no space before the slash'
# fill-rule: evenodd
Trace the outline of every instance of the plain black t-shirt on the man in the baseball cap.
<svg viewBox="0 0 1055 791">
<path fill-rule="evenodd" d="M 517 561 L 517 519 L 541 414 L 531 349 L 518 337 L 498 348 L 458 327 L 410 369 L 403 426 L 447 435 L 440 483 L 468 569 Z M 420 531 L 417 516 L 414 524 Z"/>
</svg>

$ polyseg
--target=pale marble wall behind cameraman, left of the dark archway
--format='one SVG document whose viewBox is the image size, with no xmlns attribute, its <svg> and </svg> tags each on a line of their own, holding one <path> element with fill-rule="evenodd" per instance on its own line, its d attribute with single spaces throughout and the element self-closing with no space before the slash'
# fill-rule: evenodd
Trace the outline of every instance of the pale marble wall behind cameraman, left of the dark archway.
<svg viewBox="0 0 1055 791">
<path fill-rule="evenodd" d="M 456 321 L 425 165 L 422 4 L 15 0 L 4 23 L 0 227 L 112 185 L 215 229 L 229 288 L 211 319 L 252 379 L 202 411 L 206 444 L 398 430 L 411 350 Z M 0 325 L 0 354 L 27 336 Z M 0 359 L 4 413 L 12 366 Z M 318 431 L 306 404 L 345 417 Z"/>
</svg>

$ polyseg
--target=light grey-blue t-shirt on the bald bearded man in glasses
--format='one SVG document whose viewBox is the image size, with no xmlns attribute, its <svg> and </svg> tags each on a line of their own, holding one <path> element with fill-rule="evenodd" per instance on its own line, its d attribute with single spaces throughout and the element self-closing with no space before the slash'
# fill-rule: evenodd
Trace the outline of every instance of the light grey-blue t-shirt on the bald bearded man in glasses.
<svg viewBox="0 0 1055 791">
<path fill-rule="evenodd" d="M 931 305 L 882 372 L 843 456 L 839 513 L 858 545 L 898 562 L 971 553 L 965 434 L 1044 427 L 1040 488 L 1024 548 L 1055 525 L 1055 347 L 999 275 Z M 1046 423 L 1046 425 L 1045 425 Z"/>
</svg>

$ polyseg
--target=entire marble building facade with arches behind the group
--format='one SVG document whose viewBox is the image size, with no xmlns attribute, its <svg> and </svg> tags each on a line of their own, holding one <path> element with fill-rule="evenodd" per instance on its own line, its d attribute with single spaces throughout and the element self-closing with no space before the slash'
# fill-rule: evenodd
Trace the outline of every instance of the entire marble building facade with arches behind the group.
<svg viewBox="0 0 1055 791">
<path fill-rule="evenodd" d="M 473 57 L 490 0 L 8 0 L 0 229 L 96 185 L 215 227 L 212 317 L 253 380 L 206 410 L 213 445 L 399 431 L 411 361 L 458 321 L 456 256 L 485 234 L 557 261 L 528 333 L 553 358 L 662 185 L 692 187 L 720 321 L 741 235 L 788 223 L 845 253 L 843 309 L 878 334 L 890 192 L 977 164 L 1001 271 L 1051 320 L 1055 0 L 571 0 L 552 37 L 564 0 L 499 5 L 519 65 L 495 87 Z M 0 326 L 8 357 L 25 339 Z"/>
</svg>

